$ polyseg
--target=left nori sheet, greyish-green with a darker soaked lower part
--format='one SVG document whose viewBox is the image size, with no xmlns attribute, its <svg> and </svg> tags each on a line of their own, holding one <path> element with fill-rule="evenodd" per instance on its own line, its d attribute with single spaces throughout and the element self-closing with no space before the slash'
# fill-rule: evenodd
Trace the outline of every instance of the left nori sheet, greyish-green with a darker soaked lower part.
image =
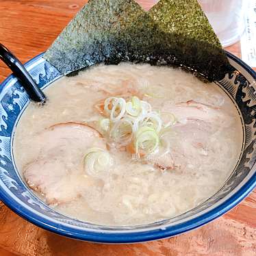
<svg viewBox="0 0 256 256">
<path fill-rule="evenodd" d="M 151 17 L 133 0 L 90 0 L 44 58 L 66 75 L 99 62 L 118 63 L 149 52 Z M 132 52 L 132 53 L 131 53 Z"/>
</svg>

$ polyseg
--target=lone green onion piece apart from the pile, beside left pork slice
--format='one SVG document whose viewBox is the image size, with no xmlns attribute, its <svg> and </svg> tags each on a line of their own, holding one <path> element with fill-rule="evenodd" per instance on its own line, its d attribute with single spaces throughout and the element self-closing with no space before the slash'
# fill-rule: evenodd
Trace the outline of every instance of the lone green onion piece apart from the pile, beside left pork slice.
<svg viewBox="0 0 256 256">
<path fill-rule="evenodd" d="M 100 148 L 89 149 L 84 157 L 84 168 L 89 175 L 99 177 L 113 165 L 110 153 Z"/>
</svg>

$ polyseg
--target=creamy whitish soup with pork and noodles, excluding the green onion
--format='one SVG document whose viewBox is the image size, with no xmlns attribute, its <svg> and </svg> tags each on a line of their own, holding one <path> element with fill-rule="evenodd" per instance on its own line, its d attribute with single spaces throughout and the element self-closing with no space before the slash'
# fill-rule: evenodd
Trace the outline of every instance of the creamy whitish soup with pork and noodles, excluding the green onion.
<svg viewBox="0 0 256 256">
<path fill-rule="evenodd" d="M 38 196 L 71 218 L 141 225 L 177 216 L 216 193 L 238 161 L 242 125 L 231 99 L 216 84 L 204 84 L 180 69 L 94 66 L 55 81 L 45 92 L 47 104 L 30 104 L 18 122 L 14 158 Z M 136 94 L 153 110 L 175 114 L 177 123 L 166 135 L 174 168 L 159 168 L 168 164 L 165 158 L 157 164 L 132 159 L 111 144 L 114 165 L 97 177 L 86 172 L 81 164 L 86 150 L 105 146 L 105 139 L 70 122 L 94 123 L 101 118 L 94 105 L 120 94 Z M 68 124 L 49 129 L 58 123 Z"/>
</svg>

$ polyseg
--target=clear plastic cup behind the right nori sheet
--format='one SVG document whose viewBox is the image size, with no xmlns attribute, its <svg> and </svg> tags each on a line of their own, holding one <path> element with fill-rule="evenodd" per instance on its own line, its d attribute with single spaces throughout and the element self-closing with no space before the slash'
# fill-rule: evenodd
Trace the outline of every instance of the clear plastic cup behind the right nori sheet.
<svg viewBox="0 0 256 256">
<path fill-rule="evenodd" d="M 250 0 L 198 0 L 223 47 L 238 40 L 245 29 L 246 4 Z"/>
</svg>

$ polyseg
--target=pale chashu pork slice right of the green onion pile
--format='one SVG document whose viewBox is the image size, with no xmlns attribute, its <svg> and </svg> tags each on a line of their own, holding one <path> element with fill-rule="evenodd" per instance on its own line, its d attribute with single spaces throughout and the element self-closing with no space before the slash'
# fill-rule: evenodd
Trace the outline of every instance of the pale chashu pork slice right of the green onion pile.
<svg viewBox="0 0 256 256">
<path fill-rule="evenodd" d="M 172 132 L 164 136 L 169 150 L 151 156 L 151 162 L 162 170 L 177 167 L 185 168 L 188 164 L 201 164 L 201 157 L 207 156 L 208 140 L 218 125 L 231 120 L 224 120 L 218 107 L 196 101 L 164 105 L 164 112 L 170 112 L 177 118 Z"/>
</svg>

